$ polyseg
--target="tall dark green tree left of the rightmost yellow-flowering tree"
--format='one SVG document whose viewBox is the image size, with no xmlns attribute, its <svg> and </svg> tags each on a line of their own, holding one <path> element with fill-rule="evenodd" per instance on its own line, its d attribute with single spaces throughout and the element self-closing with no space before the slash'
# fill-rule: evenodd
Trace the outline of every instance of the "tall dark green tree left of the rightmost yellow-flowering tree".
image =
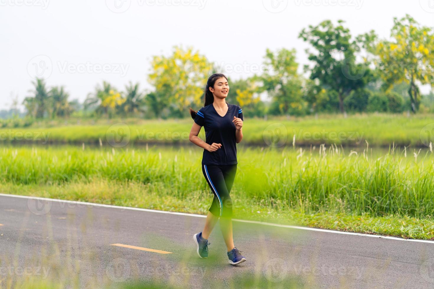
<svg viewBox="0 0 434 289">
<path fill-rule="evenodd" d="M 351 91 L 363 88 L 372 79 L 366 63 L 357 63 L 355 52 L 360 51 L 357 41 L 352 41 L 349 29 L 342 26 L 343 20 L 333 26 L 330 20 L 309 25 L 302 29 L 299 38 L 309 42 L 316 53 L 309 52 L 309 60 L 314 63 L 310 78 L 319 79 L 320 84 L 336 91 L 339 97 L 339 110 L 344 113 L 344 99 Z M 357 39 L 357 38 L 356 38 Z M 308 66 L 305 66 L 306 70 Z"/>
</svg>

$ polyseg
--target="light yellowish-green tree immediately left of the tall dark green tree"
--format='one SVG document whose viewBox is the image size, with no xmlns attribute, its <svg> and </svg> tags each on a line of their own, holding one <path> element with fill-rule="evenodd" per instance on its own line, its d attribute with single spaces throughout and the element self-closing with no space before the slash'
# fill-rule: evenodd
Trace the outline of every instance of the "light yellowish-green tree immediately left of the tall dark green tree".
<svg viewBox="0 0 434 289">
<path fill-rule="evenodd" d="M 299 114 L 302 110 L 302 79 L 297 69 L 295 49 L 280 49 L 273 53 L 266 49 L 264 73 L 254 80 L 262 82 L 259 93 L 267 91 L 273 102 L 278 103 L 282 114 Z"/>
</svg>

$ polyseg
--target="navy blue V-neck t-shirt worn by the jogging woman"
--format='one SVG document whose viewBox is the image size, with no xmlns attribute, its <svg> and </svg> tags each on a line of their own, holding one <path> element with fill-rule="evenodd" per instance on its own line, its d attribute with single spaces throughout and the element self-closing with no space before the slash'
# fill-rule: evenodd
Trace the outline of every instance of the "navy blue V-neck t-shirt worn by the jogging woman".
<svg viewBox="0 0 434 289">
<path fill-rule="evenodd" d="M 194 122 L 204 127 L 206 143 L 221 143 L 220 149 L 209 152 L 204 149 L 202 165 L 236 165 L 237 162 L 237 128 L 232 122 L 233 117 L 243 120 L 243 111 L 236 104 L 228 104 L 224 117 L 217 113 L 213 104 L 208 104 L 197 111 Z M 244 120 L 243 120 L 244 121 Z"/>
</svg>

